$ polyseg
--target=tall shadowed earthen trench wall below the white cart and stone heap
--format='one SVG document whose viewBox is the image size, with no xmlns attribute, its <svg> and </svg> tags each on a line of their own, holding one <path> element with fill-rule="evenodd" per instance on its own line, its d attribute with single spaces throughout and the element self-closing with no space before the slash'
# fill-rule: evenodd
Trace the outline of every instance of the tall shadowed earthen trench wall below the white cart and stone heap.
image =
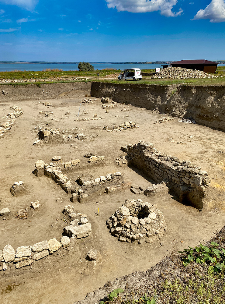
<svg viewBox="0 0 225 304">
<path fill-rule="evenodd" d="M 91 95 L 112 96 L 114 101 L 175 117 L 193 117 L 198 124 L 225 131 L 225 86 L 92 82 Z"/>
</svg>

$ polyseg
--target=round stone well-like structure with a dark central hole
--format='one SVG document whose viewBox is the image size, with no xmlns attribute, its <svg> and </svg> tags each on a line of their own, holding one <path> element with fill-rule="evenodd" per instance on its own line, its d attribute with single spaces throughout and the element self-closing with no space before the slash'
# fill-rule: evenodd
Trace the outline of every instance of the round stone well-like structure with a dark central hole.
<svg viewBox="0 0 225 304">
<path fill-rule="evenodd" d="M 110 233 L 121 242 L 139 244 L 158 241 L 166 231 L 166 223 L 157 205 L 142 200 L 125 200 L 106 221 Z"/>
</svg>

